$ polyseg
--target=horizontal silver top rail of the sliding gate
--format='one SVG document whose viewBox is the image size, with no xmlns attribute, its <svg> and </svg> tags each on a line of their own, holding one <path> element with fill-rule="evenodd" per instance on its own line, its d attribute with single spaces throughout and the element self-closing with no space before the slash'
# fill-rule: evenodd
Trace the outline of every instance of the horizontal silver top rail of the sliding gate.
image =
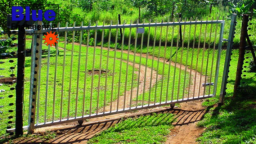
<svg viewBox="0 0 256 144">
<path fill-rule="evenodd" d="M 212 24 L 212 23 L 225 23 L 224 20 L 218 21 L 188 21 L 188 22 L 162 22 L 162 23 L 139 23 L 139 24 L 116 24 L 105 26 L 80 26 L 80 27 L 60 27 L 55 28 L 58 32 L 63 31 L 81 31 L 81 30 L 102 30 L 114 28 L 135 28 L 135 27 L 157 27 L 157 26 L 180 26 L 192 24 Z M 50 29 L 41 30 L 41 32 L 48 32 Z M 36 33 L 36 30 L 26 30 L 26 33 Z"/>
</svg>

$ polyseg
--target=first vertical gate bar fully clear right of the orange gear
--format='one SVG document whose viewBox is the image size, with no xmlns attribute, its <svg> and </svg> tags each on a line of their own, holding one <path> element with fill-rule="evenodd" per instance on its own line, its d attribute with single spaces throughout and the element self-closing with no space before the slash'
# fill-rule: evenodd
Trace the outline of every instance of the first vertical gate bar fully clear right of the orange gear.
<svg viewBox="0 0 256 144">
<path fill-rule="evenodd" d="M 66 22 L 66 28 L 68 22 Z M 66 46 L 67 46 L 67 31 L 65 31 L 64 38 L 64 54 L 63 54 L 63 69 L 62 69 L 62 85 L 61 85 L 61 98 L 60 98 L 60 121 L 62 120 L 62 105 L 63 105 L 63 91 L 64 91 L 64 76 L 65 76 L 65 61 L 66 61 Z"/>
</svg>

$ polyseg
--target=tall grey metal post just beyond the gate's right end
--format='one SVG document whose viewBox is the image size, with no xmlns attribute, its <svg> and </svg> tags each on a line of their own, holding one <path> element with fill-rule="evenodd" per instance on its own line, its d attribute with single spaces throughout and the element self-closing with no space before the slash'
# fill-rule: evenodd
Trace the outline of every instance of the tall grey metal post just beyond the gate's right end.
<svg viewBox="0 0 256 144">
<path fill-rule="evenodd" d="M 222 83 L 221 83 L 221 88 L 220 88 L 219 103 L 221 103 L 221 104 L 223 104 L 223 102 L 224 102 L 224 96 L 225 96 L 225 90 L 226 90 L 226 84 L 227 84 L 226 81 L 228 80 L 228 69 L 229 69 L 231 51 L 232 51 L 232 46 L 233 46 L 236 20 L 237 20 L 237 15 L 232 14 L 230 28 L 229 28 L 228 46 L 226 49 L 226 59 L 225 59 L 225 64 L 224 64 L 223 78 L 222 78 Z"/>
</svg>

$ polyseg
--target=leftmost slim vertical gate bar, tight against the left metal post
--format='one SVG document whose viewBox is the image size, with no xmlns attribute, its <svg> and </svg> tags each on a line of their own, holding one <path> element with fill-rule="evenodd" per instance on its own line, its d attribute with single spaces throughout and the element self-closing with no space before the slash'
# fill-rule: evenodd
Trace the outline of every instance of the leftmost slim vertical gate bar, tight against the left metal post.
<svg viewBox="0 0 256 144">
<path fill-rule="evenodd" d="M 42 39 L 43 35 L 40 34 L 40 39 Z M 42 40 L 40 40 L 42 41 Z M 41 68 L 42 68 L 42 45 L 39 44 L 39 69 L 38 69 L 38 86 L 37 86 L 37 112 L 36 112 L 36 124 L 39 123 L 39 109 L 40 109 L 40 81 L 41 81 Z"/>
</svg>

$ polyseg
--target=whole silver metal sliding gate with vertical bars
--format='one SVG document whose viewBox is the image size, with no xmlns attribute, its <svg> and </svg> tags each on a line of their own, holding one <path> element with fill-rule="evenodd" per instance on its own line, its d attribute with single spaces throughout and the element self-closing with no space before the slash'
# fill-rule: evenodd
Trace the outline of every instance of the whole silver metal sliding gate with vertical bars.
<svg viewBox="0 0 256 144">
<path fill-rule="evenodd" d="M 36 34 L 50 30 L 26 31 L 33 33 L 33 49 L 29 118 L 23 129 L 33 132 L 39 127 L 216 96 L 224 23 L 198 19 L 102 26 L 81 23 L 78 27 L 66 23 L 57 29 L 64 41 L 58 40 L 56 49 L 47 48 L 43 35 Z M 71 43 L 68 32 L 72 32 Z M 48 55 L 42 57 L 44 51 Z"/>
</svg>

